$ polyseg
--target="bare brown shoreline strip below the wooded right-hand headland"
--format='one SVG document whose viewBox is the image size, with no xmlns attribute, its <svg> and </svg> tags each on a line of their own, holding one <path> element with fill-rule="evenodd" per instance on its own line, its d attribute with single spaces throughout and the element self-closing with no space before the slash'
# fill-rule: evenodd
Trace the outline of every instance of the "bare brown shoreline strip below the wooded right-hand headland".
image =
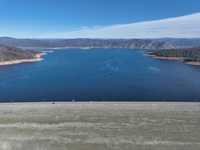
<svg viewBox="0 0 200 150">
<path fill-rule="evenodd" d="M 172 61 L 178 61 L 178 62 L 182 62 L 184 64 L 187 65 L 194 65 L 194 66 L 200 66 L 200 62 L 186 62 L 184 61 L 183 57 L 160 57 L 160 56 L 156 56 L 156 55 L 151 55 L 151 54 L 144 54 L 144 56 L 149 56 L 155 59 L 162 59 L 162 60 L 172 60 Z"/>
</svg>

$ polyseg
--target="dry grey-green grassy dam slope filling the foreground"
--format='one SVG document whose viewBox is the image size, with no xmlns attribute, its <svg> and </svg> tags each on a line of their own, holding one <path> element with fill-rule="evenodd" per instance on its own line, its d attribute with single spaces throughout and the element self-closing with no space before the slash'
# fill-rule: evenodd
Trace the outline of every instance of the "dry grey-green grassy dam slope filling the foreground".
<svg viewBox="0 0 200 150">
<path fill-rule="evenodd" d="M 6 104 L 0 135 L 0 150 L 198 150 L 200 104 Z"/>
</svg>

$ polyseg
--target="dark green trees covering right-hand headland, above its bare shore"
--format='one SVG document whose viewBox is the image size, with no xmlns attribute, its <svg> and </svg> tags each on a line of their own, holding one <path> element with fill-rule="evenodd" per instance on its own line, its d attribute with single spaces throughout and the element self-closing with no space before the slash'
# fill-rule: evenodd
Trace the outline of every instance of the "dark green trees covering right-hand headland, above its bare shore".
<svg viewBox="0 0 200 150">
<path fill-rule="evenodd" d="M 186 62 L 200 62 L 200 48 L 168 49 L 152 51 L 150 55 L 158 57 L 178 57 Z"/>
</svg>

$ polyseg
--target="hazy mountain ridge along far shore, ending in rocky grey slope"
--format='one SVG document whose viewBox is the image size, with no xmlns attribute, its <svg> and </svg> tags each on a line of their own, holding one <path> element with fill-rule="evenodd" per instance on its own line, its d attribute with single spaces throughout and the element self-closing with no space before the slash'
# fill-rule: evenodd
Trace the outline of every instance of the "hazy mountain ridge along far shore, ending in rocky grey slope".
<svg viewBox="0 0 200 150">
<path fill-rule="evenodd" d="M 16 39 L 0 37 L 0 44 L 15 47 L 65 47 L 65 48 L 122 48 L 122 49 L 172 49 L 176 45 L 165 41 L 144 39 Z"/>
</svg>

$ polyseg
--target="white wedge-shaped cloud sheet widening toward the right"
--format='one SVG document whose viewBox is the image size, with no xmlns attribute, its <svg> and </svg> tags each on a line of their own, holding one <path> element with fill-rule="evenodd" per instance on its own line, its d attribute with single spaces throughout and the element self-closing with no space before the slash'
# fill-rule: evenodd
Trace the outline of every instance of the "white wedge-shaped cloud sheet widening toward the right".
<svg viewBox="0 0 200 150">
<path fill-rule="evenodd" d="M 82 27 L 44 38 L 199 38 L 200 13 L 155 21 L 110 26 Z"/>
</svg>

